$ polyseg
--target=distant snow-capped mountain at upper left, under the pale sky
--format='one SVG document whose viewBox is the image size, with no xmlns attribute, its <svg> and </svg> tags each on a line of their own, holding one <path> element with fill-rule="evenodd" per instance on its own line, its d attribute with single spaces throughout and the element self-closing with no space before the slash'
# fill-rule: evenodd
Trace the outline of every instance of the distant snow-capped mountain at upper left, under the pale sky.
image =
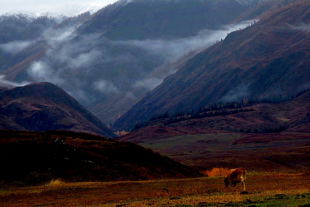
<svg viewBox="0 0 310 207">
<path fill-rule="evenodd" d="M 93 7 L 93 9 L 95 8 L 98 7 Z M 47 48 L 54 47 L 53 44 L 57 42 L 55 40 L 60 41 L 83 22 L 89 20 L 91 15 L 88 9 L 93 13 L 93 9 L 89 7 L 83 10 L 84 13 L 73 13 L 76 15 L 71 17 L 55 15 L 55 13 L 53 15 L 53 12 L 49 11 L 36 14 L 8 12 L 1 15 L 0 71 L 6 70 L 3 74 L 8 75 L 6 77 L 8 80 L 23 82 L 25 78 L 16 78 L 10 73 L 21 73 L 20 76 L 27 77 L 28 74 L 24 72 L 25 67 L 23 67 L 27 65 L 25 62 L 28 63 L 26 68 L 29 68 L 31 61 L 39 59 L 40 55 L 42 56 L 47 51 Z M 22 80 L 20 81 L 20 79 Z"/>
</svg>

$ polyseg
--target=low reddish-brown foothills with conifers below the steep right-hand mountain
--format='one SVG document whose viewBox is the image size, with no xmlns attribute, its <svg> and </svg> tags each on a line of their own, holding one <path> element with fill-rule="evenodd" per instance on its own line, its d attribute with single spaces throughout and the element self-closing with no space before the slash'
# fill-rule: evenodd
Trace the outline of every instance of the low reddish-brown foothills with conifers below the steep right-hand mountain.
<svg viewBox="0 0 310 207">
<path fill-rule="evenodd" d="M 184 115 L 183 119 L 181 117 L 162 117 L 158 120 L 146 122 L 141 128 L 117 137 L 117 139 L 141 143 L 178 135 L 211 132 L 224 133 L 224 131 L 225 133 L 255 133 L 251 137 L 256 136 L 256 140 L 260 140 L 259 137 L 265 136 L 258 133 L 273 133 L 270 136 L 275 137 L 278 135 L 274 133 L 281 131 L 304 133 L 307 137 L 308 133 L 310 133 L 309 102 L 310 91 L 303 90 L 297 94 L 296 98 L 290 101 L 276 104 L 262 102 L 246 103 L 249 108 L 255 109 L 254 111 L 249 110 L 247 112 L 205 118 L 202 116 L 196 119 L 190 119 L 190 116 L 187 115 Z M 234 111 L 235 109 L 230 110 Z M 199 114 L 199 110 L 196 112 Z M 194 115 L 197 114 L 196 112 L 194 112 Z M 169 123 L 170 120 L 176 121 L 175 123 Z M 290 136 L 294 137 L 293 135 Z"/>
</svg>

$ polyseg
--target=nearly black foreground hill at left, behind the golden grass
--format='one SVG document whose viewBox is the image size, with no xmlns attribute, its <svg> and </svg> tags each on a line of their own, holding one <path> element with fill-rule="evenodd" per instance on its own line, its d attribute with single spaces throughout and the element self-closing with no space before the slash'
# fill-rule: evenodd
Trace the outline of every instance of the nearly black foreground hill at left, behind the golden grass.
<svg viewBox="0 0 310 207">
<path fill-rule="evenodd" d="M 1 180 L 16 185 L 198 176 L 193 169 L 133 142 L 87 133 L 0 130 Z"/>
</svg>

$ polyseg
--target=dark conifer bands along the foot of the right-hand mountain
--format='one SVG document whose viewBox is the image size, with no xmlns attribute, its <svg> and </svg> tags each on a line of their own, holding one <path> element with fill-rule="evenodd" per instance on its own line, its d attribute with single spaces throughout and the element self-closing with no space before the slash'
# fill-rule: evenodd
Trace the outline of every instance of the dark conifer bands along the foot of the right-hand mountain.
<svg viewBox="0 0 310 207">
<path fill-rule="evenodd" d="M 292 94 L 281 96 L 281 94 L 280 94 L 277 97 L 267 97 L 267 98 L 255 99 L 255 100 L 248 100 L 248 99 L 244 98 L 241 101 L 241 103 L 238 103 L 238 102 L 230 102 L 230 103 L 219 102 L 219 103 L 215 103 L 215 104 L 212 104 L 209 106 L 204 106 L 204 107 L 200 106 L 199 108 L 197 108 L 195 110 L 192 109 L 190 111 L 187 111 L 186 113 L 184 113 L 183 110 L 175 111 L 172 115 L 169 115 L 168 112 L 165 112 L 163 114 L 151 117 L 149 121 L 135 123 L 135 126 L 131 130 L 136 130 L 138 128 L 148 126 L 148 125 L 154 125 L 158 121 L 162 123 L 162 120 L 163 120 L 164 126 L 166 126 L 166 125 L 171 126 L 175 123 L 182 122 L 185 120 L 203 119 L 203 118 L 215 117 L 215 116 L 229 116 L 229 115 L 234 115 L 237 113 L 259 111 L 259 109 L 256 108 L 255 104 L 262 104 L 262 103 L 276 104 L 276 103 L 283 103 L 286 101 L 291 101 L 294 98 L 297 98 L 297 97 L 303 95 L 304 93 L 308 92 L 309 90 L 310 89 L 301 90 L 295 96 Z M 305 95 L 305 96 L 307 96 L 307 95 Z M 304 105 L 307 104 L 307 100 L 304 100 L 304 101 L 295 100 L 294 102 L 296 102 L 296 103 L 302 102 L 302 104 L 304 104 Z M 287 102 L 287 103 L 290 103 L 290 102 Z M 287 103 L 283 103 L 283 105 L 285 105 Z M 297 104 L 295 104 L 295 105 L 297 105 Z M 298 107 L 297 106 L 292 106 L 292 107 L 287 106 L 286 108 L 291 108 L 293 110 L 294 108 L 299 108 L 299 107 L 300 106 L 298 106 Z M 300 109 L 300 110 L 303 110 L 307 113 L 307 109 L 306 110 Z M 260 114 L 263 112 L 264 111 L 261 111 Z M 265 114 L 268 115 L 269 112 L 265 112 Z M 307 123 L 303 123 L 303 124 L 307 124 Z M 290 124 L 288 124 L 287 127 L 292 127 L 292 126 Z M 219 128 L 217 128 L 217 129 L 219 129 Z M 223 130 L 223 129 L 224 129 L 224 127 L 222 126 L 221 130 Z M 232 131 L 233 129 L 232 128 L 230 128 L 230 129 L 226 128 L 225 130 Z M 278 124 L 275 124 L 275 126 L 272 126 L 272 123 L 271 123 L 269 126 L 265 126 L 264 128 L 250 127 L 250 128 L 247 128 L 246 130 L 244 130 L 243 128 L 235 128 L 234 131 L 235 132 L 237 132 L 237 131 L 247 132 L 247 133 L 276 133 L 276 132 L 281 132 L 281 131 L 285 131 L 285 130 L 286 130 L 286 126 L 284 124 L 281 126 L 279 126 Z"/>
</svg>

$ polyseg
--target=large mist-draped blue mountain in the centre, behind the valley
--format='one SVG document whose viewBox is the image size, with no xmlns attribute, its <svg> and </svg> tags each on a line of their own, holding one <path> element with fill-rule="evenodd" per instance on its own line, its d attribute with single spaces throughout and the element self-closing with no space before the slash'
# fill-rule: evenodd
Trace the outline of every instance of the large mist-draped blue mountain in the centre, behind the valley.
<svg viewBox="0 0 310 207">
<path fill-rule="evenodd" d="M 148 78 L 154 70 L 191 49 L 213 44 L 217 38 L 212 36 L 214 32 L 222 32 L 223 25 L 258 2 L 121 0 L 104 7 L 72 34 L 61 33 L 68 35 L 63 41 L 55 41 L 54 36 L 46 39 L 45 55 L 21 67 L 12 67 L 14 71 L 4 71 L 5 79 L 60 85 L 104 123 L 113 122 L 140 96 L 162 82 L 163 78 L 156 76 L 156 84 L 149 86 Z M 55 29 L 62 26 L 66 24 Z M 146 87 L 138 92 L 141 82 Z M 112 96 L 117 98 L 111 99 Z M 133 96 L 138 98 L 127 101 Z M 118 102 L 126 105 L 115 107 Z M 101 113 L 111 108 L 116 110 Z"/>
</svg>

